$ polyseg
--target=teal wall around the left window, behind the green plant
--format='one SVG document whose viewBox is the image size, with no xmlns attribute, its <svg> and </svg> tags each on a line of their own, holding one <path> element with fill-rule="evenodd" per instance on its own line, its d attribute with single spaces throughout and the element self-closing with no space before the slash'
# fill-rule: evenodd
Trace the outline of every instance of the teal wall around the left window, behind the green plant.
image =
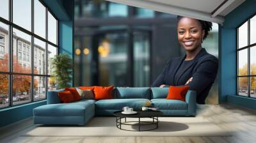
<svg viewBox="0 0 256 143">
<path fill-rule="evenodd" d="M 59 20 L 59 41 L 60 53 L 66 53 L 74 59 L 74 0 L 43 0 Z M 74 61 L 74 60 L 73 60 Z M 74 68 L 73 68 L 74 69 Z M 74 72 L 73 72 L 74 74 Z M 74 76 L 73 76 L 74 77 Z M 73 79 L 74 80 L 74 79 Z M 74 84 L 74 82 L 70 81 Z M 0 110 L 0 127 L 15 123 L 22 119 L 33 116 L 35 107 L 45 105 L 46 100 L 41 102 L 28 103 Z"/>
</svg>

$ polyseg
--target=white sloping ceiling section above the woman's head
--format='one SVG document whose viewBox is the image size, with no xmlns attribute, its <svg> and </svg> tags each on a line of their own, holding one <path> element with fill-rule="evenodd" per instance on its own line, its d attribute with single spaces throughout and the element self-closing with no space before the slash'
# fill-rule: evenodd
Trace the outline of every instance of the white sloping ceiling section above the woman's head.
<svg viewBox="0 0 256 143">
<path fill-rule="evenodd" d="M 222 24 L 245 0 L 106 0 Z M 222 4 L 222 5 L 221 5 Z"/>
</svg>

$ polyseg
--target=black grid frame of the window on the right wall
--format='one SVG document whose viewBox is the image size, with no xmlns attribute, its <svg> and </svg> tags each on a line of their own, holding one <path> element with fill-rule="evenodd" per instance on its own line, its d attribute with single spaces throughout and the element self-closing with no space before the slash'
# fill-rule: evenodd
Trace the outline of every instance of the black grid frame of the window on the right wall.
<svg viewBox="0 0 256 143">
<path fill-rule="evenodd" d="M 250 20 L 253 18 L 253 17 L 256 17 L 256 13 L 253 13 L 253 15 L 251 15 L 250 17 L 248 17 L 246 20 L 244 20 L 241 24 L 239 24 L 239 26 L 236 27 L 236 95 L 237 96 L 243 96 L 241 94 L 239 94 L 239 77 L 247 77 L 247 96 L 243 96 L 243 97 L 246 97 L 246 98 L 253 98 L 255 99 L 256 97 L 252 97 L 251 96 L 251 81 L 250 81 L 250 78 L 251 77 L 256 77 L 256 75 L 251 75 L 251 63 L 250 63 L 250 51 L 253 47 L 256 46 L 256 43 L 252 43 L 250 44 Z M 248 40 L 247 40 L 247 45 L 245 47 L 241 47 L 239 49 L 239 27 L 243 26 L 244 23 L 248 22 Z M 256 34 L 256 33 L 255 33 Z M 247 56 L 248 56 L 248 59 L 247 59 L 247 63 L 248 63 L 248 67 L 247 67 L 247 75 L 239 75 L 239 51 L 240 50 L 244 50 L 244 49 L 247 49 Z"/>
</svg>

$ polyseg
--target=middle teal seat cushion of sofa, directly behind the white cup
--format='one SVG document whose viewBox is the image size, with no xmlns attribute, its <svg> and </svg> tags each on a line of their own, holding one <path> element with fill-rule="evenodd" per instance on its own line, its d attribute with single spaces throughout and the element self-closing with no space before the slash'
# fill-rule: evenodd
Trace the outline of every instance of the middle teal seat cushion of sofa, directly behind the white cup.
<svg viewBox="0 0 256 143">
<path fill-rule="evenodd" d="M 123 107 L 128 106 L 136 110 L 141 109 L 146 102 L 150 102 L 148 99 L 112 99 L 112 100 L 99 100 L 95 102 L 95 109 L 104 110 L 122 110 Z"/>
</svg>

